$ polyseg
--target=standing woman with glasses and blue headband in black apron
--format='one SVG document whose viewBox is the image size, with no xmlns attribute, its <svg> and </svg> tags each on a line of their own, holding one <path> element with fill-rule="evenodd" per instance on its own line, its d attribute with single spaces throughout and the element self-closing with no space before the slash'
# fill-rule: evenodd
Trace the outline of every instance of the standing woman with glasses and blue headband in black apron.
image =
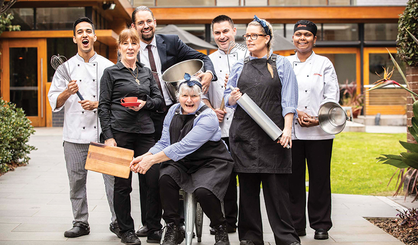
<svg viewBox="0 0 418 245">
<path fill-rule="evenodd" d="M 240 245 L 263 245 L 260 184 L 268 221 L 277 245 L 299 245 L 289 210 L 291 129 L 297 108 L 297 81 L 290 63 L 273 54 L 270 23 L 254 16 L 243 35 L 250 56 L 235 63 L 224 93 L 235 109 L 229 136 L 234 171 L 239 178 L 238 237 Z M 234 91 L 229 86 L 235 87 Z M 274 142 L 236 101 L 247 94 L 283 130 Z"/>
</svg>

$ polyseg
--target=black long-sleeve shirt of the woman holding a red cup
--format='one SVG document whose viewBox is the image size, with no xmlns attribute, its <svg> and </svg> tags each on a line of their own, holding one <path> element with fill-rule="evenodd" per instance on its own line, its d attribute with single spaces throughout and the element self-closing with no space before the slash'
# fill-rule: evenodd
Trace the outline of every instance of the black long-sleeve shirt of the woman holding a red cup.
<svg viewBox="0 0 418 245">
<path fill-rule="evenodd" d="M 112 128 L 142 134 L 155 131 L 151 111 L 161 109 L 164 100 L 151 70 L 140 62 L 136 62 L 136 68 L 140 85 L 133 76 L 136 76 L 136 70 L 132 71 L 120 61 L 104 70 L 98 107 L 104 140 L 113 138 Z M 134 111 L 121 105 L 121 99 L 125 97 L 137 97 L 147 102 L 139 111 Z"/>
</svg>

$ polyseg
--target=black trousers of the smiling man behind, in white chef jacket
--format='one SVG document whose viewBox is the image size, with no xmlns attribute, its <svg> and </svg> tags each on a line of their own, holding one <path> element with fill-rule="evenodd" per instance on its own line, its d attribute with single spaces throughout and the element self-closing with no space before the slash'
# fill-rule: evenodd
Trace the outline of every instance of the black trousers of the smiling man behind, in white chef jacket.
<svg viewBox="0 0 418 245">
<path fill-rule="evenodd" d="M 224 137 L 222 140 L 225 141 L 229 149 L 229 137 Z M 233 228 L 236 228 L 236 221 L 238 217 L 238 204 L 236 203 L 236 199 L 236 172 L 232 172 L 229 186 L 224 197 L 224 210 L 228 226 Z"/>
</svg>

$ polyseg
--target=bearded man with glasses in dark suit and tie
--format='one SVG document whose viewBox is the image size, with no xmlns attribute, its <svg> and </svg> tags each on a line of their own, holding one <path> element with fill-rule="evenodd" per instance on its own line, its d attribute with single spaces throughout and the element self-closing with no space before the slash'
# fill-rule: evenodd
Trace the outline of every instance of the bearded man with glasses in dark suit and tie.
<svg viewBox="0 0 418 245">
<path fill-rule="evenodd" d="M 161 138 L 162 125 L 165 115 L 167 114 L 170 106 L 176 102 L 172 101 L 169 97 L 168 91 L 161 79 L 162 73 L 164 73 L 164 71 L 171 66 L 182 61 L 200 59 L 204 62 L 204 73 L 199 74 L 199 77 L 202 79 L 202 90 L 204 93 L 208 91 L 210 82 L 212 80 L 217 80 L 217 77 L 209 57 L 188 47 L 182 40 L 179 39 L 178 35 L 155 35 L 157 21 L 154 18 L 153 12 L 148 7 L 139 6 L 135 8 L 132 13 L 131 26 L 136 29 L 140 38 L 140 49 L 137 58 L 141 63 L 145 64 L 146 67 L 152 70 L 160 92 L 165 100 L 166 106 L 163 110 L 155 112 L 152 116 L 155 125 L 154 136 L 157 142 Z M 161 208 L 159 196 L 155 196 L 156 193 L 153 192 L 151 193 L 151 197 L 145 197 L 147 195 L 147 191 L 149 193 L 150 187 L 154 189 L 153 185 L 155 185 L 155 183 L 158 185 L 158 180 L 152 181 L 152 183 L 147 183 L 145 177 L 141 175 L 139 181 L 141 220 L 143 226 L 136 231 L 136 235 L 147 236 L 147 242 L 157 241 L 157 234 L 160 235 L 157 227 L 160 227 L 159 221 L 161 220 L 161 213 L 150 214 L 150 211 L 152 211 L 150 210 L 150 206 L 157 205 L 156 201 L 158 200 L 159 208 Z M 157 195 L 159 194 L 157 193 Z M 182 207 L 180 207 L 180 209 L 182 209 Z M 145 210 L 147 211 L 144 212 Z M 157 221 L 158 224 L 156 223 Z"/>
</svg>

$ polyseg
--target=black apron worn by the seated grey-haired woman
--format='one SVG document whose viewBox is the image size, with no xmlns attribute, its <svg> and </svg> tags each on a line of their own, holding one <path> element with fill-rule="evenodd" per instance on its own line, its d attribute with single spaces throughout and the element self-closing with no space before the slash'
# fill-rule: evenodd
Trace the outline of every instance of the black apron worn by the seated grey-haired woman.
<svg viewBox="0 0 418 245">
<path fill-rule="evenodd" d="M 209 107 L 202 106 L 196 114 L 180 114 L 181 105 L 170 124 L 170 143 L 180 142 L 193 128 L 193 122 L 200 113 Z M 161 165 L 160 177 L 171 176 L 187 193 L 193 193 L 197 188 L 206 188 L 219 200 L 223 200 L 228 189 L 234 162 L 227 147 L 219 141 L 208 141 L 183 159 L 175 162 L 169 160 Z"/>
</svg>

